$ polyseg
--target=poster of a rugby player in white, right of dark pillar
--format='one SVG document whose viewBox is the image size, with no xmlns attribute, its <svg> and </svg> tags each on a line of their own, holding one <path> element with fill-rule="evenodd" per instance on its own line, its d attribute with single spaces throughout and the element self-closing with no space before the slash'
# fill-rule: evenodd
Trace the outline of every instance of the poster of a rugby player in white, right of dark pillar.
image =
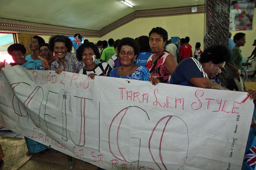
<svg viewBox="0 0 256 170">
<path fill-rule="evenodd" d="M 230 2 L 229 31 L 252 30 L 255 0 Z"/>
</svg>

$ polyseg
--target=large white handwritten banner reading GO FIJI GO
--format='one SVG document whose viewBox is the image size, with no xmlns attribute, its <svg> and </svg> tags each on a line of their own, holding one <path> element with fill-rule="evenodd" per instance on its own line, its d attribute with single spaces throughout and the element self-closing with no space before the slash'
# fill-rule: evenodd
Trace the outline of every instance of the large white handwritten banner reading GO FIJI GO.
<svg viewBox="0 0 256 170">
<path fill-rule="evenodd" d="M 104 169 L 241 170 L 246 92 L 2 68 L 0 124 Z"/>
</svg>

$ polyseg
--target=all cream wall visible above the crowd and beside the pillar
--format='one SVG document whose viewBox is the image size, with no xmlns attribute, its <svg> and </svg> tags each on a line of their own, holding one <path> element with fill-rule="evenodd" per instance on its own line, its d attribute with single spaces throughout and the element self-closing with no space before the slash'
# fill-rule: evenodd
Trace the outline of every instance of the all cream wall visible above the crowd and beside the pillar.
<svg viewBox="0 0 256 170">
<path fill-rule="evenodd" d="M 256 9 L 254 9 L 254 14 L 256 15 Z M 140 18 L 135 19 L 126 25 L 123 25 L 116 30 L 108 33 L 107 35 L 101 38 L 87 38 L 90 42 L 97 43 L 99 40 L 107 40 L 109 38 L 121 39 L 124 37 L 136 38 L 141 35 L 148 35 L 150 30 L 153 27 L 162 27 L 167 30 L 170 37 L 178 36 L 179 38 L 185 38 L 189 36 L 190 42 L 194 48 L 196 42 L 200 42 L 203 48 L 203 35 L 204 35 L 204 14 L 191 14 L 191 15 L 179 15 L 171 17 L 154 17 L 154 18 Z M 256 39 L 255 30 L 256 30 L 256 20 L 253 19 L 253 29 L 246 31 L 233 31 L 233 36 L 242 32 L 246 34 L 246 44 L 244 47 L 241 47 L 242 55 L 245 60 L 252 53 L 254 46 L 252 46 L 253 41 Z M 40 35 L 44 38 L 45 42 L 48 42 L 49 35 Z"/>
</svg>

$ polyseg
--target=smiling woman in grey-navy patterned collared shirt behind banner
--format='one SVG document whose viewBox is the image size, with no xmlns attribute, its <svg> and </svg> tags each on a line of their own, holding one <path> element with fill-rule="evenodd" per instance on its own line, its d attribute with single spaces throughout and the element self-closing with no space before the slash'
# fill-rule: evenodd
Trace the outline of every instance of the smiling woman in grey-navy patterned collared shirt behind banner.
<svg viewBox="0 0 256 170">
<path fill-rule="evenodd" d="M 60 72 L 78 73 L 83 68 L 82 61 L 78 61 L 75 53 L 71 53 L 72 41 L 64 35 L 52 36 L 49 40 L 50 50 L 53 50 L 57 56 L 49 68 L 43 65 L 46 70 L 55 70 L 57 74 Z"/>
</svg>

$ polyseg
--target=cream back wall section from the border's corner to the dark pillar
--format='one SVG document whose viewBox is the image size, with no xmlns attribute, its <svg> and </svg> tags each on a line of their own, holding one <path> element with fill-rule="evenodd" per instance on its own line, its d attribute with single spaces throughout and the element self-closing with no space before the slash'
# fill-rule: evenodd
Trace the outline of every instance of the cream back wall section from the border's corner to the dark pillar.
<svg viewBox="0 0 256 170">
<path fill-rule="evenodd" d="M 164 28 L 170 37 L 185 38 L 189 36 L 190 44 L 196 42 L 203 44 L 204 14 L 179 15 L 171 17 L 140 18 L 129 22 L 122 27 L 103 36 L 102 40 L 109 38 L 121 39 L 123 37 L 136 38 L 147 35 L 154 27 Z"/>
</svg>

